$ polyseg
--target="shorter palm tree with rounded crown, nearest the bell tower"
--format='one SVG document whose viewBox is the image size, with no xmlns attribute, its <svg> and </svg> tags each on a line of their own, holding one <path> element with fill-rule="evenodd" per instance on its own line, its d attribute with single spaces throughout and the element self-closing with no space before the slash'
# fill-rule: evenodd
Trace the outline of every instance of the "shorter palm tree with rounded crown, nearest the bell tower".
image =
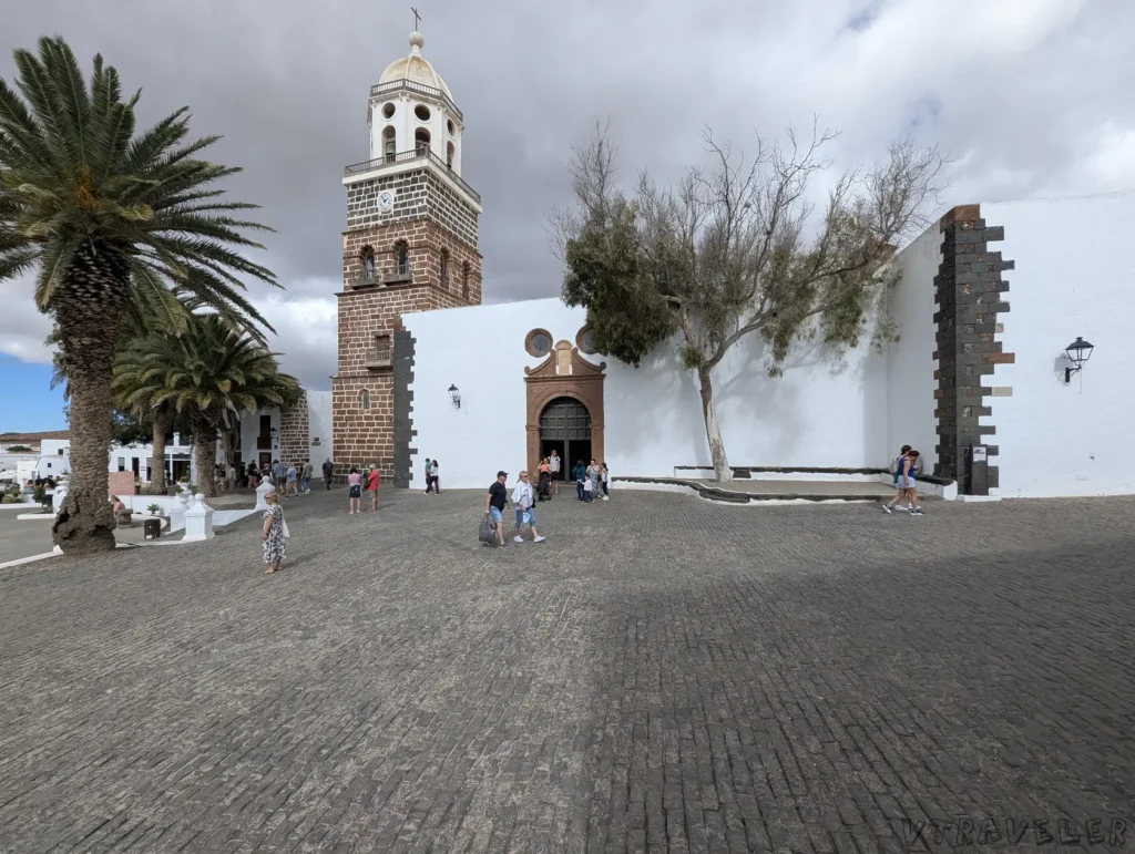
<svg viewBox="0 0 1135 854">
<path fill-rule="evenodd" d="M 149 406 L 188 418 L 197 463 L 197 490 L 216 494 L 217 434 L 244 413 L 299 399 L 300 383 L 279 372 L 276 354 L 216 314 L 191 315 L 178 337 L 151 335 L 124 350 L 115 387 L 128 407 Z"/>
</svg>

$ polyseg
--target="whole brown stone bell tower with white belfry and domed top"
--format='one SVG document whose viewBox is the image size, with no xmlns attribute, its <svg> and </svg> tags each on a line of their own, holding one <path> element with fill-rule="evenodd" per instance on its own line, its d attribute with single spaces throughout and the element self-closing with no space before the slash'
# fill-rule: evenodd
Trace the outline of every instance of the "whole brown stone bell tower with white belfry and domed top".
<svg viewBox="0 0 1135 854">
<path fill-rule="evenodd" d="M 422 56 L 410 53 L 370 87 L 370 159 L 344 169 L 347 228 L 338 296 L 338 371 L 331 378 L 336 474 L 378 465 L 384 479 L 409 479 L 406 380 L 396 399 L 401 332 L 407 312 L 479 305 L 477 251 L 481 197 L 461 177 L 465 125 L 449 87 Z M 412 365 L 412 357 L 410 360 Z M 403 432 L 405 432 L 403 431 Z"/>
</svg>

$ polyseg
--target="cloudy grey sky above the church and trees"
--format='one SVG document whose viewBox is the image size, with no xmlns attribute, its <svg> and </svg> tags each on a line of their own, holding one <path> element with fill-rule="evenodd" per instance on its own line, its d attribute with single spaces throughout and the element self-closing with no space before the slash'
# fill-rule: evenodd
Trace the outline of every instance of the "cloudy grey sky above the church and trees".
<svg viewBox="0 0 1135 854">
<path fill-rule="evenodd" d="M 945 204 L 1135 186 L 1132 0 L 417 0 L 424 56 L 465 116 L 463 175 L 481 194 L 485 299 L 556 294 L 545 215 L 569 201 L 564 166 L 609 118 L 625 172 L 665 177 L 701 157 L 709 125 L 735 147 L 756 132 L 842 135 L 838 163 L 913 134 L 957 158 Z M 183 104 L 212 157 L 244 167 L 235 196 L 276 229 L 264 261 L 287 293 L 254 288 L 284 366 L 310 388 L 335 370 L 346 163 L 369 157 L 367 98 L 407 51 L 397 3 L 335 0 L 36 0 L 9 3 L 11 50 L 61 33 L 143 87 L 151 122 Z M 317 11 L 318 9 L 318 11 Z M 570 9 L 570 11 L 569 11 Z M 50 328 L 27 281 L 0 284 L 0 382 L 26 387 L 0 430 L 51 429 Z M 41 391 L 42 389 L 42 391 Z M 35 400 L 50 403 L 40 418 Z M 47 404 L 45 404 L 47 405 Z M 35 421 L 35 423 L 30 423 Z M 48 421 L 52 423 L 48 423 Z"/>
</svg>

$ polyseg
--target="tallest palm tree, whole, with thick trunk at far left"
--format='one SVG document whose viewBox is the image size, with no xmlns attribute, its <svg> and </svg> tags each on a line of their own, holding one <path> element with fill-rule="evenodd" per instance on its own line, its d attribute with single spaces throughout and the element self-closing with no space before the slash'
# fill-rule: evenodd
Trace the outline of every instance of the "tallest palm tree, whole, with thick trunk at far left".
<svg viewBox="0 0 1135 854">
<path fill-rule="evenodd" d="M 260 247 L 236 219 L 255 205 L 220 200 L 237 169 L 197 159 L 187 108 L 135 135 L 141 91 L 94 58 L 90 82 L 67 43 L 15 52 L 16 90 L 0 79 L 0 281 L 36 270 L 35 303 L 53 315 L 70 391 L 72 484 L 53 530 L 69 553 L 115 546 L 107 502 L 111 370 L 124 316 L 183 315 L 177 289 L 228 316 L 267 323 L 238 274 L 276 285 L 235 248 Z M 262 248 L 262 247 L 260 247 Z M 173 328 L 173 327 L 171 327 Z"/>
</svg>

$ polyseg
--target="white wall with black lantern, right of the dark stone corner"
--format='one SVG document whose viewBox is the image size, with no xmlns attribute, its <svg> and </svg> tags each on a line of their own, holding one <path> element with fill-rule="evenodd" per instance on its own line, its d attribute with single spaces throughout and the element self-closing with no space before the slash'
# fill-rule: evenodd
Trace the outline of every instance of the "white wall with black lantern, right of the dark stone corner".
<svg viewBox="0 0 1135 854">
<path fill-rule="evenodd" d="M 1016 262 L 999 336 L 1016 362 L 986 378 L 1012 396 L 987 398 L 982 420 L 997 425 L 1000 494 L 1135 493 L 1135 193 L 983 204 L 982 217 L 1004 227 L 995 248 Z M 1095 352 L 1065 386 L 1077 336 Z"/>
</svg>

